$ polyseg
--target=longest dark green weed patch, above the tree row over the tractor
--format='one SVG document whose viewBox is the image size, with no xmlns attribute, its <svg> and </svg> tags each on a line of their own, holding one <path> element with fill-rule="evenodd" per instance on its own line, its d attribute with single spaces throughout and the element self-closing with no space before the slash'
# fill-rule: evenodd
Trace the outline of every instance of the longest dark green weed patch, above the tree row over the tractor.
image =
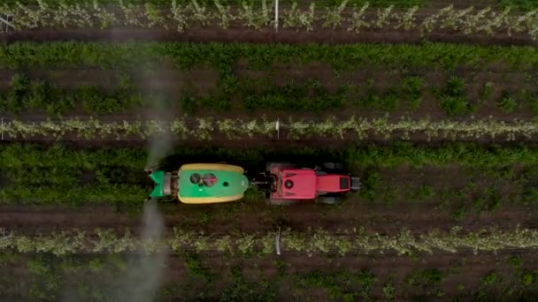
<svg viewBox="0 0 538 302">
<path fill-rule="evenodd" d="M 303 82 L 287 79 L 284 85 L 273 85 L 272 79 L 238 79 L 236 88 L 229 92 L 226 87 L 219 87 L 218 93 L 196 98 L 194 89 L 185 92 L 181 97 L 181 108 L 189 114 L 199 112 L 204 106 L 207 109 L 219 109 L 219 100 L 240 102 L 244 109 L 273 109 L 283 111 L 327 112 L 342 109 L 346 104 L 353 103 L 366 109 L 384 109 L 394 111 L 400 102 L 411 109 L 417 109 L 422 102 L 424 81 L 419 77 L 403 79 L 398 87 L 381 91 L 374 86 L 373 80 L 362 87 L 354 85 L 340 87 L 330 92 L 321 84 L 319 79 L 309 78 Z M 364 95 L 362 95 L 364 94 Z M 229 108 L 226 107 L 226 109 Z"/>
</svg>

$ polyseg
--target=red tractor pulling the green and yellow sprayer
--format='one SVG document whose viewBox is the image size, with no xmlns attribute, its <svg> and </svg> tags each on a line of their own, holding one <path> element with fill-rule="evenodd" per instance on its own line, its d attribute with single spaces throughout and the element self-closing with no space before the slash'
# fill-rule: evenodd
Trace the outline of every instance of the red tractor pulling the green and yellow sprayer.
<svg viewBox="0 0 538 302">
<path fill-rule="evenodd" d="M 358 191 L 360 180 L 351 177 L 337 162 L 321 166 L 300 167 L 288 162 L 269 162 L 264 173 L 251 181 L 266 189 L 266 202 L 271 205 L 289 205 L 302 202 L 338 204 L 340 197 Z"/>
</svg>

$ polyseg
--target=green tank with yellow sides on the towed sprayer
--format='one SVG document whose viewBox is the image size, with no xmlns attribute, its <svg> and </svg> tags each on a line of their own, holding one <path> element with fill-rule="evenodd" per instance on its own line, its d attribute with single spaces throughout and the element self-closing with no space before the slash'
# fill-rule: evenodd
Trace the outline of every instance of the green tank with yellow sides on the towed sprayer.
<svg viewBox="0 0 538 302">
<path fill-rule="evenodd" d="M 242 167 L 230 164 L 185 164 L 178 176 L 178 198 L 184 203 L 239 200 L 249 187 L 249 179 Z"/>
</svg>

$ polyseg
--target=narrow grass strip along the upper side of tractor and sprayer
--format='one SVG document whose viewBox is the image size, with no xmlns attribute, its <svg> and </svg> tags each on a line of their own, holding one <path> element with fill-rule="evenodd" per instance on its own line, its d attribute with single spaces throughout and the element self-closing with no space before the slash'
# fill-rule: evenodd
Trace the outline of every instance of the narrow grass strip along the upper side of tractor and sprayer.
<svg viewBox="0 0 538 302">
<path fill-rule="evenodd" d="M 394 167 L 409 164 L 424 165 L 461 164 L 465 167 L 494 168 L 513 164 L 538 164 L 538 148 L 524 145 L 512 147 L 480 147 L 473 143 L 448 143 L 442 147 L 415 146 L 411 143 L 393 143 L 388 146 L 365 145 L 347 147 L 342 150 L 327 148 L 270 148 L 234 149 L 224 147 L 175 149 L 167 162 L 201 160 L 232 161 L 259 165 L 267 159 L 283 156 L 292 159 L 312 158 L 322 160 L 339 159 L 353 165 Z M 117 166 L 144 169 L 148 158 L 145 148 L 102 148 L 75 149 L 58 143 L 54 147 L 34 144 L 9 144 L 0 146 L 0 167 L 3 170 L 24 167 L 66 167 L 73 169 L 95 169 L 97 166 Z M 166 162 L 166 161 L 165 161 Z M 262 165 L 260 167 L 265 167 Z"/>
</svg>

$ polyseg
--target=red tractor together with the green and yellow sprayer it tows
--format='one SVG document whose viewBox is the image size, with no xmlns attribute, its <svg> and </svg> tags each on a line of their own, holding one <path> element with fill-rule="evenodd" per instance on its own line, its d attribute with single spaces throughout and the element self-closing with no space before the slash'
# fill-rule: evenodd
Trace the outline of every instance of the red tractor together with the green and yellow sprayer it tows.
<svg viewBox="0 0 538 302">
<path fill-rule="evenodd" d="M 146 172 L 155 183 L 150 199 L 177 197 L 187 204 L 241 200 L 251 186 L 263 189 L 271 205 L 337 204 L 342 195 L 360 187 L 359 178 L 351 177 L 339 162 L 313 166 L 268 162 L 265 170 L 253 177 L 247 177 L 242 167 L 227 163 L 188 163 L 176 171 Z"/>
</svg>

